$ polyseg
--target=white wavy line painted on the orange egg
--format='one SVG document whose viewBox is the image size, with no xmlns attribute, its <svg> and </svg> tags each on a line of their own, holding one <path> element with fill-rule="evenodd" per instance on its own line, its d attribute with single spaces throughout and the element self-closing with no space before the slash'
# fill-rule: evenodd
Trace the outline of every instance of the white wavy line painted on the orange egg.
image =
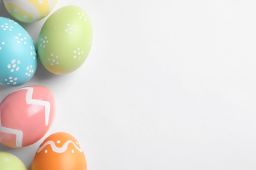
<svg viewBox="0 0 256 170">
<path fill-rule="evenodd" d="M 79 152 L 83 152 L 82 148 L 79 148 L 73 141 L 66 141 L 66 143 L 63 144 L 62 147 L 57 147 L 54 143 L 54 141 L 47 141 L 46 143 L 43 144 L 43 146 L 39 147 L 37 150 L 37 153 L 41 152 L 41 150 L 43 150 L 43 148 L 45 148 L 45 146 L 47 146 L 48 144 L 51 145 L 51 148 L 53 149 L 53 152 L 57 152 L 57 153 L 63 153 L 68 149 L 68 144 L 74 144 L 75 148 L 79 151 Z"/>
</svg>

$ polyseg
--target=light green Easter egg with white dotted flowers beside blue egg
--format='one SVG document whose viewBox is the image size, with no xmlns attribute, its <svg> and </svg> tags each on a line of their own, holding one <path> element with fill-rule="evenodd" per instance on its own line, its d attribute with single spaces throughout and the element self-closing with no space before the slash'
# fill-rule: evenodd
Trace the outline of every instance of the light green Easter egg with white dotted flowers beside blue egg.
<svg viewBox="0 0 256 170">
<path fill-rule="evenodd" d="M 38 55 L 43 66 L 56 75 L 78 69 L 91 50 L 92 25 L 83 9 L 73 5 L 56 10 L 39 33 Z"/>
</svg>

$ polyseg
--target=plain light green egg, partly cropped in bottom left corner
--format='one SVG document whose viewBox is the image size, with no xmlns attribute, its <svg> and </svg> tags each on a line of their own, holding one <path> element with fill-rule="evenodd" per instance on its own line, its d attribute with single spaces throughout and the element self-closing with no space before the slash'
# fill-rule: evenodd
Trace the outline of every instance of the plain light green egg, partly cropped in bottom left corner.
<svg viewBox="0 0 256 170">
<path fill-rule="evenodd" d="M 27 170 L 24 163 L 9 152 L 0 152 L 0 169 L 1 170 Z"/>
</svg>

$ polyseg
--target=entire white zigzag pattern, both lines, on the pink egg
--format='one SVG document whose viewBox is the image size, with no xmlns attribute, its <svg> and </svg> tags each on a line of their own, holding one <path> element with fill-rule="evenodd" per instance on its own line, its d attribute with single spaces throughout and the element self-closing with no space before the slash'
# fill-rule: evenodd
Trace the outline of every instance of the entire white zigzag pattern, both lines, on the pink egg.
<svg viewBox="0 0 256 170">
<path fill-rule="evenodd" d="M 21 88 L 20 90 L 28 90 L 28 92 L 26 93 L 26 103 L 28 105 L 41 105 L 41 106 L 45 107 L 45 125 L 47 126 L 49 123 L 49 117 L 50 117 L 50 102 L 32 99 L 33 88 L 27 87 L 27 88 Z M 17 91 L 19 91 L 19 90 L 17 90 Z M 15 134 L 16 135 L 16 146 L 22 147 L 23 132 L 19 129 L 3 127 L 2 123 L 1 123 L 1 112 L 0 112 L 0 131 L 3 133 Z"/>
</svg>

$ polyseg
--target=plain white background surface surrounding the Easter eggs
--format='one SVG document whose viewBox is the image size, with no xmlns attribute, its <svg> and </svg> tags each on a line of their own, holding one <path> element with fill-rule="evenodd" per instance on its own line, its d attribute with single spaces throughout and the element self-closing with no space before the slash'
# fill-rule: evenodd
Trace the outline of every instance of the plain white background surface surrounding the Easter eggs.
<svg viewBox="0 0 256 170">
<path fill-rule="evenodd" d="M 256 169 L 256 1 L 59 0 L 54 10 L 65 5 L 91 18 L 85 63 L 64 76 L 39 63 L 30 82 L 0 87 L 1 99 L 33 84 L 54 93 L 45 137 L 72 134 L 91 170 Z M 3 0 L 0 14 L 11 18 Z M 35 42 L 45 19 L 22 24 Z M 30 169 L 41 141 L 0 150 Z"/>
</svg>

